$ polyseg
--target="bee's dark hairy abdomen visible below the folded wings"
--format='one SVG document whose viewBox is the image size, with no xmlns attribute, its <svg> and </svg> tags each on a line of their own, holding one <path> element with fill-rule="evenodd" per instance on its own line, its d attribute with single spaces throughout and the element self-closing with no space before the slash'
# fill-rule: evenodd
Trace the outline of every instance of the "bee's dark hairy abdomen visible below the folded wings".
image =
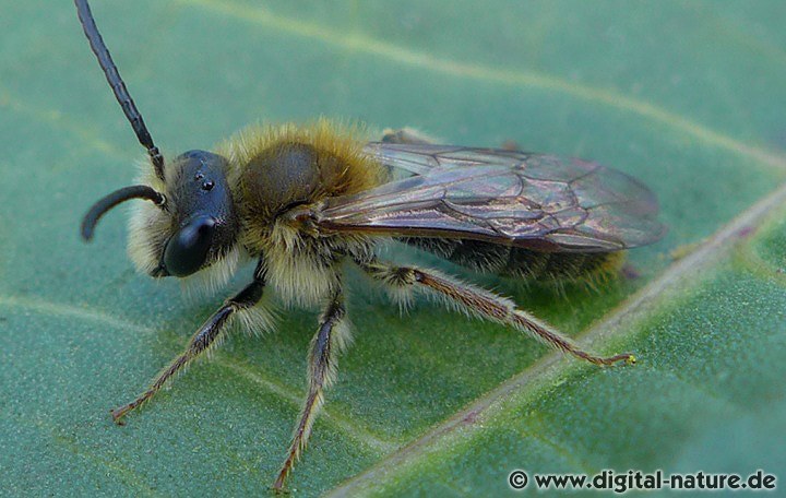
<svg viewBox="0 0 786 498">
<path fill-rule="evenodd" d="M 537 282 L 594 282 L 616 273 L 621 252 L 538 252 L 477 240 L 408 237 L 406 244 L 480 273 Z"/>
</svg>

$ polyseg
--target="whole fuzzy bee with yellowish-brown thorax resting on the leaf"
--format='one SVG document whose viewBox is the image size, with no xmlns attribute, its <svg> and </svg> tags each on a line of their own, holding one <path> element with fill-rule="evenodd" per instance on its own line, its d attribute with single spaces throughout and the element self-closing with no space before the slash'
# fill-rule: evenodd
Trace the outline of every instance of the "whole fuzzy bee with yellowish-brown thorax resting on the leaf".
<svg viewBox="0 0 786 498">
<path fill-rule="evenodd" d="M 619 269 L 620 251 L 664 234 L 657 202 L 642 183 L 594 162 L 509 149 L 432 144 L 407 130 L 366 142 L 358 130 L 318 120 L 250 128 L 215 152 L 165 161 L 104 44 L 87 0 L 75 0 L 87 40 L 146 149 L 139 185 L 96 202 L 81 233 L 129 200 L 129 254 L 156 278 L 207 275 L 225 284 L 255 260 L 253 280 L 200 327 L 182 354 L 134 401 L 111 411 L 122 424 L 172 377 L 214 347 L 231 322 L 270 328 L 260 305 L 272 288 L 284 301 L 321 306 L 308 355 L 308 393 L 274 483 L 284 487 L 305 450 L 324 390 L 349 342 L 342 266 L 354 263 L 406 304 L 416 293 L 523 331 L 595 365 L 633 363 L 631 354 L 586 352 L 513 301 L 438 271 L 378 256 L 395 239 L 483 273 L 534 281 L 592 280 Z M 394 179 L 393 170 L 403 173 Z"/>
</svg>

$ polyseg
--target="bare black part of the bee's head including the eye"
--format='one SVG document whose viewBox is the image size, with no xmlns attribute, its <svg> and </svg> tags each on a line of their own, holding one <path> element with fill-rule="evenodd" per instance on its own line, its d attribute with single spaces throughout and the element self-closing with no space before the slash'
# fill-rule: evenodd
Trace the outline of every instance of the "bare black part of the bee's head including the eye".
<svg viewBox="0 0 786 498">
<path fill-rule="evenodd" d="M 227 161 L 211 152 L 189 151 L 172 165 L 168 192 L 175 233 L 166 242 L 154 276 L 188 276 L 229 250 L 237 235 Z"/>
</svg>

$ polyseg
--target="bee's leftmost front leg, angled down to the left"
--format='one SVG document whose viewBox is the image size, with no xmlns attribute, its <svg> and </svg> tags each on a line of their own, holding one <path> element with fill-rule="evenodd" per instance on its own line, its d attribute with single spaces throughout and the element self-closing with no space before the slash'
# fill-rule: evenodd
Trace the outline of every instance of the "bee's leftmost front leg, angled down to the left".
<svg viewBox="0 0 786 498">
<path fill-rule="evenodd" d="M 221 336 L 224 327 L 233 315 L 249 309 L 259 303 L 262 298 L 262 292 L 264 290 L 264 276 L 260 268 L 258 268 L 254 275 L 254 281 L 252 283 L 247 285 L 246 288 L 240 290 L 234 297 L 224 301 L 224 306 L 218 308 L 218 310 L 214 312 L 202 324 L 202 327 L 200 327 L 196 333 L 191 337 L 186 351 L 175 358 L 175 360 L 158 375 L 155 381 L 144 393 L 131 403 L 111 411 L 111 416 L 115 423 L 122 424 L 121 419 L 126 414 L 153 398 L 175 374 L 177 374 L 189 361 L 207 351 L 215 340 Z"/>
</svg>

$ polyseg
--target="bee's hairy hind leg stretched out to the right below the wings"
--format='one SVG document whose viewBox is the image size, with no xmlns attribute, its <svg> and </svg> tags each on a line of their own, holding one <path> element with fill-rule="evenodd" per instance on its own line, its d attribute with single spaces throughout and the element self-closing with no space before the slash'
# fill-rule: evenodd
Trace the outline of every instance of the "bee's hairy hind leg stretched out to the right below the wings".
<svg viewBox="0 0 786 498">
<path fill-rule="evenodd" d="M 635 363 L 635 357 L 629 353 L 609 357 L 600 357 L 587 353 L 579 348 L 579 346 L 574 345 L 569 339 L 561 335 L 551 327 L 532 315 L 517 309 L 515 304 L 510 299 L 441 275 L 438 272 L 412 266 L 391 266 L 377 261 L 357 261 L 357 263 L 369 275 L 393 287 L 400 289 L 413 286 L 424 287 L 440 297 L 449 298 L 472 315 L 477 315 L 527 332 L 552 347 L 570 353 L 577 358 L 585 359 L 595 365 L 612 365 L 618 361 Z"/>
</svg>

